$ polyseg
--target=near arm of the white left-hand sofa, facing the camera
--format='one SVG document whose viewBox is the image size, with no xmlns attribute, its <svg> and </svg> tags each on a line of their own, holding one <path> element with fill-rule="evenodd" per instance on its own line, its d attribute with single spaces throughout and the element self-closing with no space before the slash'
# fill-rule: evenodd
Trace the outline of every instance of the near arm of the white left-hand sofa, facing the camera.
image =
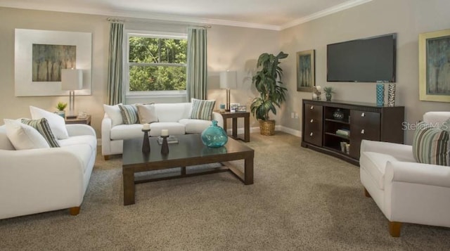
<svg viewBox="0 0 450 251">
<path fill-rule="evenodd" d="M 81 205 L 86 181 L 79 149 L 0 150 L 0 219 Z"/>
</svg>

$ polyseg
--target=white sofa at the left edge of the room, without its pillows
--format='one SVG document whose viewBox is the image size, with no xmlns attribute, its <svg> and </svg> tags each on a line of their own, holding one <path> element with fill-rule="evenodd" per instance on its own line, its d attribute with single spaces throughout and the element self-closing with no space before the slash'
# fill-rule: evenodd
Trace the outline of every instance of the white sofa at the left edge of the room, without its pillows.
<svg viewBox="0 0 450 251">
<path fill-rule="evenodd" d="M 59 148 L 15 150 L 0 126 L 0 219 L 53 210 L 79 213 L 96 160 L 96 133 L 66 125 Z"/>
</svg>

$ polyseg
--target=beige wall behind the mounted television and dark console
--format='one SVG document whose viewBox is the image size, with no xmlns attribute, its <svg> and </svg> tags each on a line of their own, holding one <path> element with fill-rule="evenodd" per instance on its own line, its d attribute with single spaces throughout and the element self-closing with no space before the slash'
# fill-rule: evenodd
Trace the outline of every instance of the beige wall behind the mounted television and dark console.
<svg viewBox="0 0 450 251">
<path fill-rule="evenodd" d="M 301 130 L 299 120 L 290 112 L 301 113 L 302 98 L 311 94 L 296 91 L 295 53 L 316 50 L 316 84 L 333 86 L 336 100 L 375 103 L 375 83 L 326 82 L 326 45 L 351 39 L 397 32 L 397 105 L 405 106 L 408 122 L 420 120 L 430 110 L 450 110 L 450 103 L 425 102 L 418 98 L 418 34 L 450 28 L 448 0 L 375 0 L 324 18 L 281 31 L 281 49 L 285 60 L 285 84 L 289 99 L 281 123 Z M 411 143 L 412 132 L 406 132 Z"/>
</svg>

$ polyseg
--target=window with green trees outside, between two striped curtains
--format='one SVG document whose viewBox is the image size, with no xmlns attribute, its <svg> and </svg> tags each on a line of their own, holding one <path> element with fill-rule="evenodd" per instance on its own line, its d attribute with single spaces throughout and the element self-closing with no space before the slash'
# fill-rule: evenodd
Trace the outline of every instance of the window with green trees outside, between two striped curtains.
<svg viewBox="0 0 450 251">
<path fill-rule="evenodd" d="M 186 35 L 129 33 L 127 95 L 186 95 Z"/>
</svg>

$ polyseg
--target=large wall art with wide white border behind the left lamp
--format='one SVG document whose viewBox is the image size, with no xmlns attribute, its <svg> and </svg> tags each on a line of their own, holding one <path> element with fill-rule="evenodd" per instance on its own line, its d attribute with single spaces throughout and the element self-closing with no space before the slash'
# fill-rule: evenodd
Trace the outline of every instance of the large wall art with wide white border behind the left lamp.
<svg viewBox="0 0 450 251">
<path fill-rule="evenodd" d="M 68 96 L 61 89 L 61 70 L 83 72 L 83 89 L 91 95 L 92 34 L 15 29 L 15 96 Z"/>
</svg>

